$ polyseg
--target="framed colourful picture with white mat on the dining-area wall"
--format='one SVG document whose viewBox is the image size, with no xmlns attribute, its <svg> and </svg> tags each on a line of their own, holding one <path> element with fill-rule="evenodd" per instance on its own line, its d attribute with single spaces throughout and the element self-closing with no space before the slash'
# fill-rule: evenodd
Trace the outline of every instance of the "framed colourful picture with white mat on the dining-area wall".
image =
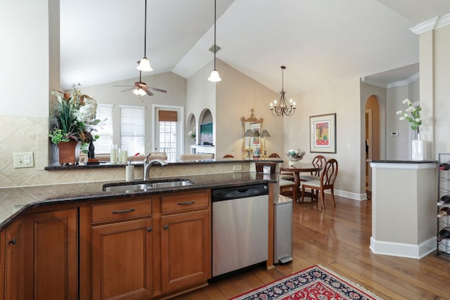
<svg viewBox="0 0 450 300">
<path fill-rule="evenodd" d="M 309 117 L 309 151 L 336 153 L 336 114 Z"/>
</svg>

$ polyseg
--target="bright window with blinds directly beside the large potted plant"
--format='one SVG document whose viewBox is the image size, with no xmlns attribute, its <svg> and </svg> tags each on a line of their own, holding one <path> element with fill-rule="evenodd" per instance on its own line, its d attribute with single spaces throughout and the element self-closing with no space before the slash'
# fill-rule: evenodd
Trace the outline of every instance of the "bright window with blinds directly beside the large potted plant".
<svg viewBox="0 0 450 300">
<path fill-rule="evenodd" d="M 100 125 L 95 127 L 96 131 L 92 134 L 100 136 L 94 142 L 96 153 L 106 154 L 110 152 L 113 144 L 113 105 L 106 103 L 98 103 L 96 119 L 102 120 Z"/>
</svg>

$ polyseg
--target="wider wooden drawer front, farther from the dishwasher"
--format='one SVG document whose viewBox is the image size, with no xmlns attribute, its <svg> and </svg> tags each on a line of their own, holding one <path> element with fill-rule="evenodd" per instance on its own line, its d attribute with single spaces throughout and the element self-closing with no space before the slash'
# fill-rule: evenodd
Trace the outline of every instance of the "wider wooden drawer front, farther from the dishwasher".
<svg viewBox="0 0 450 300">
<path fill-rule="evenodd" d="M 151 203 L 151 200 L 140 200 L 94 204 L 91 205 L 91 222 L 99 223 L 150 216 L 152 213 Z"/>
</svg>

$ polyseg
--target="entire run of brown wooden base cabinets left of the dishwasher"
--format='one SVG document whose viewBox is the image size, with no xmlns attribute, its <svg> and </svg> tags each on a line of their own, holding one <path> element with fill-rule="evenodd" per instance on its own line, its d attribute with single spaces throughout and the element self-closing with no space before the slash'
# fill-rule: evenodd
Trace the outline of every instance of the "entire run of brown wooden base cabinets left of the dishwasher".
<svg viewBox="0 0 450 300">
<path fill-rule="evenodd" d="M 211 278 L 210 191 L 42 206 L 0 232 L 0 299 L 143 300 Z"/>
</svg>

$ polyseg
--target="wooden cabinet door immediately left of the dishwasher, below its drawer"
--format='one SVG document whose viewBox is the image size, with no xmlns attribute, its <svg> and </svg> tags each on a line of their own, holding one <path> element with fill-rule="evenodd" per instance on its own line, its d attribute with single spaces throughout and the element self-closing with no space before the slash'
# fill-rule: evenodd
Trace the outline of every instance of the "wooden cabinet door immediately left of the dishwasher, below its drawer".
<svg viewBox="0 0 450 300">
<path fill-rule="evenodd" d="M 162 291 L 206 282 L 211 275 L 209 211 L 161 218 Z"/>
</svg>

